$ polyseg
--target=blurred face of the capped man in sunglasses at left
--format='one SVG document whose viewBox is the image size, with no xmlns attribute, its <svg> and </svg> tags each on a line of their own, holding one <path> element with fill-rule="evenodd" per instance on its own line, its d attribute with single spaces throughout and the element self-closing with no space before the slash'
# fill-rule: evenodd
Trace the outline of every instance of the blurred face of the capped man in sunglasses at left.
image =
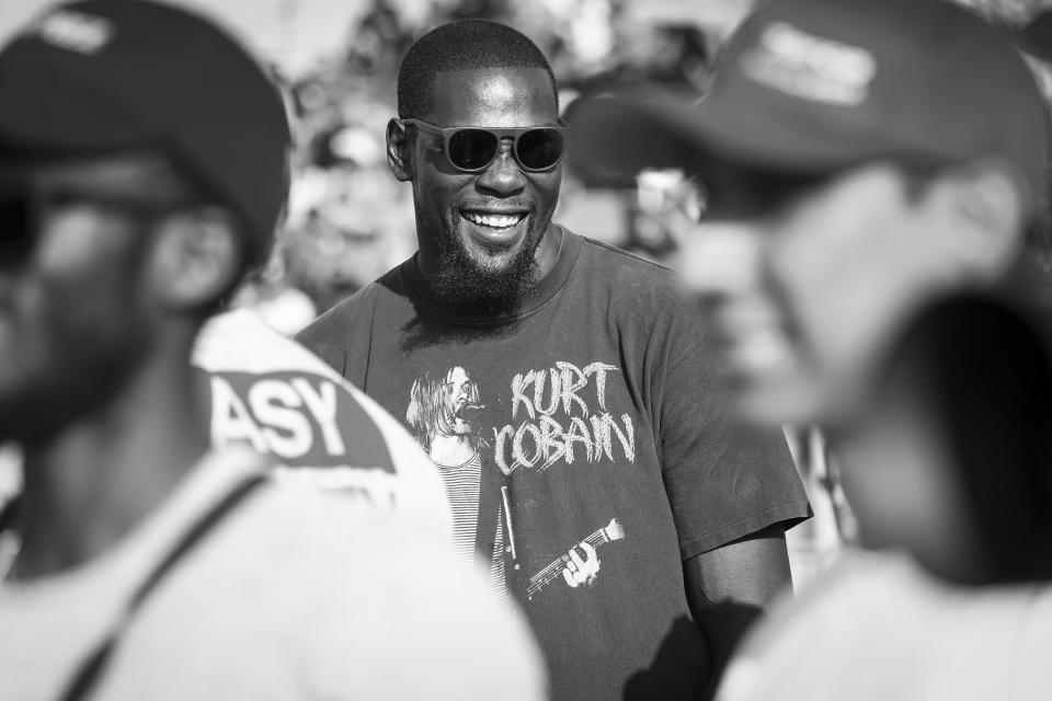
<svg viewBox="0 0 1052 701">
<path fill-rule="evenodd" d="M 48 438 L 104 405 L 139 367 L 148 232 L 116 198 L 100 198 L 146 174 L 100 160 L 0 185 L 0 438 Z"/>
</svg>

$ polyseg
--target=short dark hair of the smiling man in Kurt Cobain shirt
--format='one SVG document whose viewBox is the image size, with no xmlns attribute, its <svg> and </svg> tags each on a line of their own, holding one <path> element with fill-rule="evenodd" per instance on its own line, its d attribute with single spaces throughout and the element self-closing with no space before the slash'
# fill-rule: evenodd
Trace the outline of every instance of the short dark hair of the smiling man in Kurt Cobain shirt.
<svg viewBox="0 0 1052 701">
<path fill-rule="evenodd" d="M 460 20 L 432 30 L 409 47 L 398 70 L 398 116 L 420 118 L 431 111 L 437 73 L 484 68 L 545 69 L 558 108 L 556 74 L 536 44 L 499 22 Z"/>
</svg>

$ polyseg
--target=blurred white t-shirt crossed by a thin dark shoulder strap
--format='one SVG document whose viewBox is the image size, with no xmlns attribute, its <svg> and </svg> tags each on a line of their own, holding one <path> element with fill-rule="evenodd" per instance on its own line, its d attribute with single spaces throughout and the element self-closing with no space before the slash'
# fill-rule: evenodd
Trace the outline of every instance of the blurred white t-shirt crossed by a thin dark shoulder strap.
<svg viewBox="0 0 1052 701">
<path fill-rule="evenodd" d="M 209 453 L 102 556 L 0 586 L 0 698 L 58 698 L 188 525 L 267 467 L 244 448 Z M 544 698 L 527 625 L 445 536 L 346 498 L 250 494 L 146 600 L 92 698 Z"/>
</svg>

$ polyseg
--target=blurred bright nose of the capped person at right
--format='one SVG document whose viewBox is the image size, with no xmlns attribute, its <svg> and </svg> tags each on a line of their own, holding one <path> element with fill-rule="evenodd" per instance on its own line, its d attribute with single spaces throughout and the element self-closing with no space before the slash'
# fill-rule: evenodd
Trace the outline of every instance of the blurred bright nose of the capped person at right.
<svg viewBox="0 0 1052 701">
<path fill-rule="evenodd" d="M 759 285 L 763 240 L 744 221 L 706 221 L 685 237 L 683 276 L 706 297 L 754 291 Z"/>
</svg>

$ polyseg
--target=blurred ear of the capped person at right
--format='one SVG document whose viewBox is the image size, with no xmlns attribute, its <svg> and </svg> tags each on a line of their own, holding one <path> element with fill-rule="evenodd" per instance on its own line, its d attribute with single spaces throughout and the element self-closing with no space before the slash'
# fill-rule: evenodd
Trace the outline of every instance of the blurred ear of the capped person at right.
<svg viewBox="0 0 1052 701">
<path fill-rule="evenodd" d="M 995 160 L 952 170 L 931 195 L 945 199 L 944 235 L 963 269 L 988 281 L 1011 264 L 1025 237 L 1029 194 L 1015 171 Z"/>
</svg>

